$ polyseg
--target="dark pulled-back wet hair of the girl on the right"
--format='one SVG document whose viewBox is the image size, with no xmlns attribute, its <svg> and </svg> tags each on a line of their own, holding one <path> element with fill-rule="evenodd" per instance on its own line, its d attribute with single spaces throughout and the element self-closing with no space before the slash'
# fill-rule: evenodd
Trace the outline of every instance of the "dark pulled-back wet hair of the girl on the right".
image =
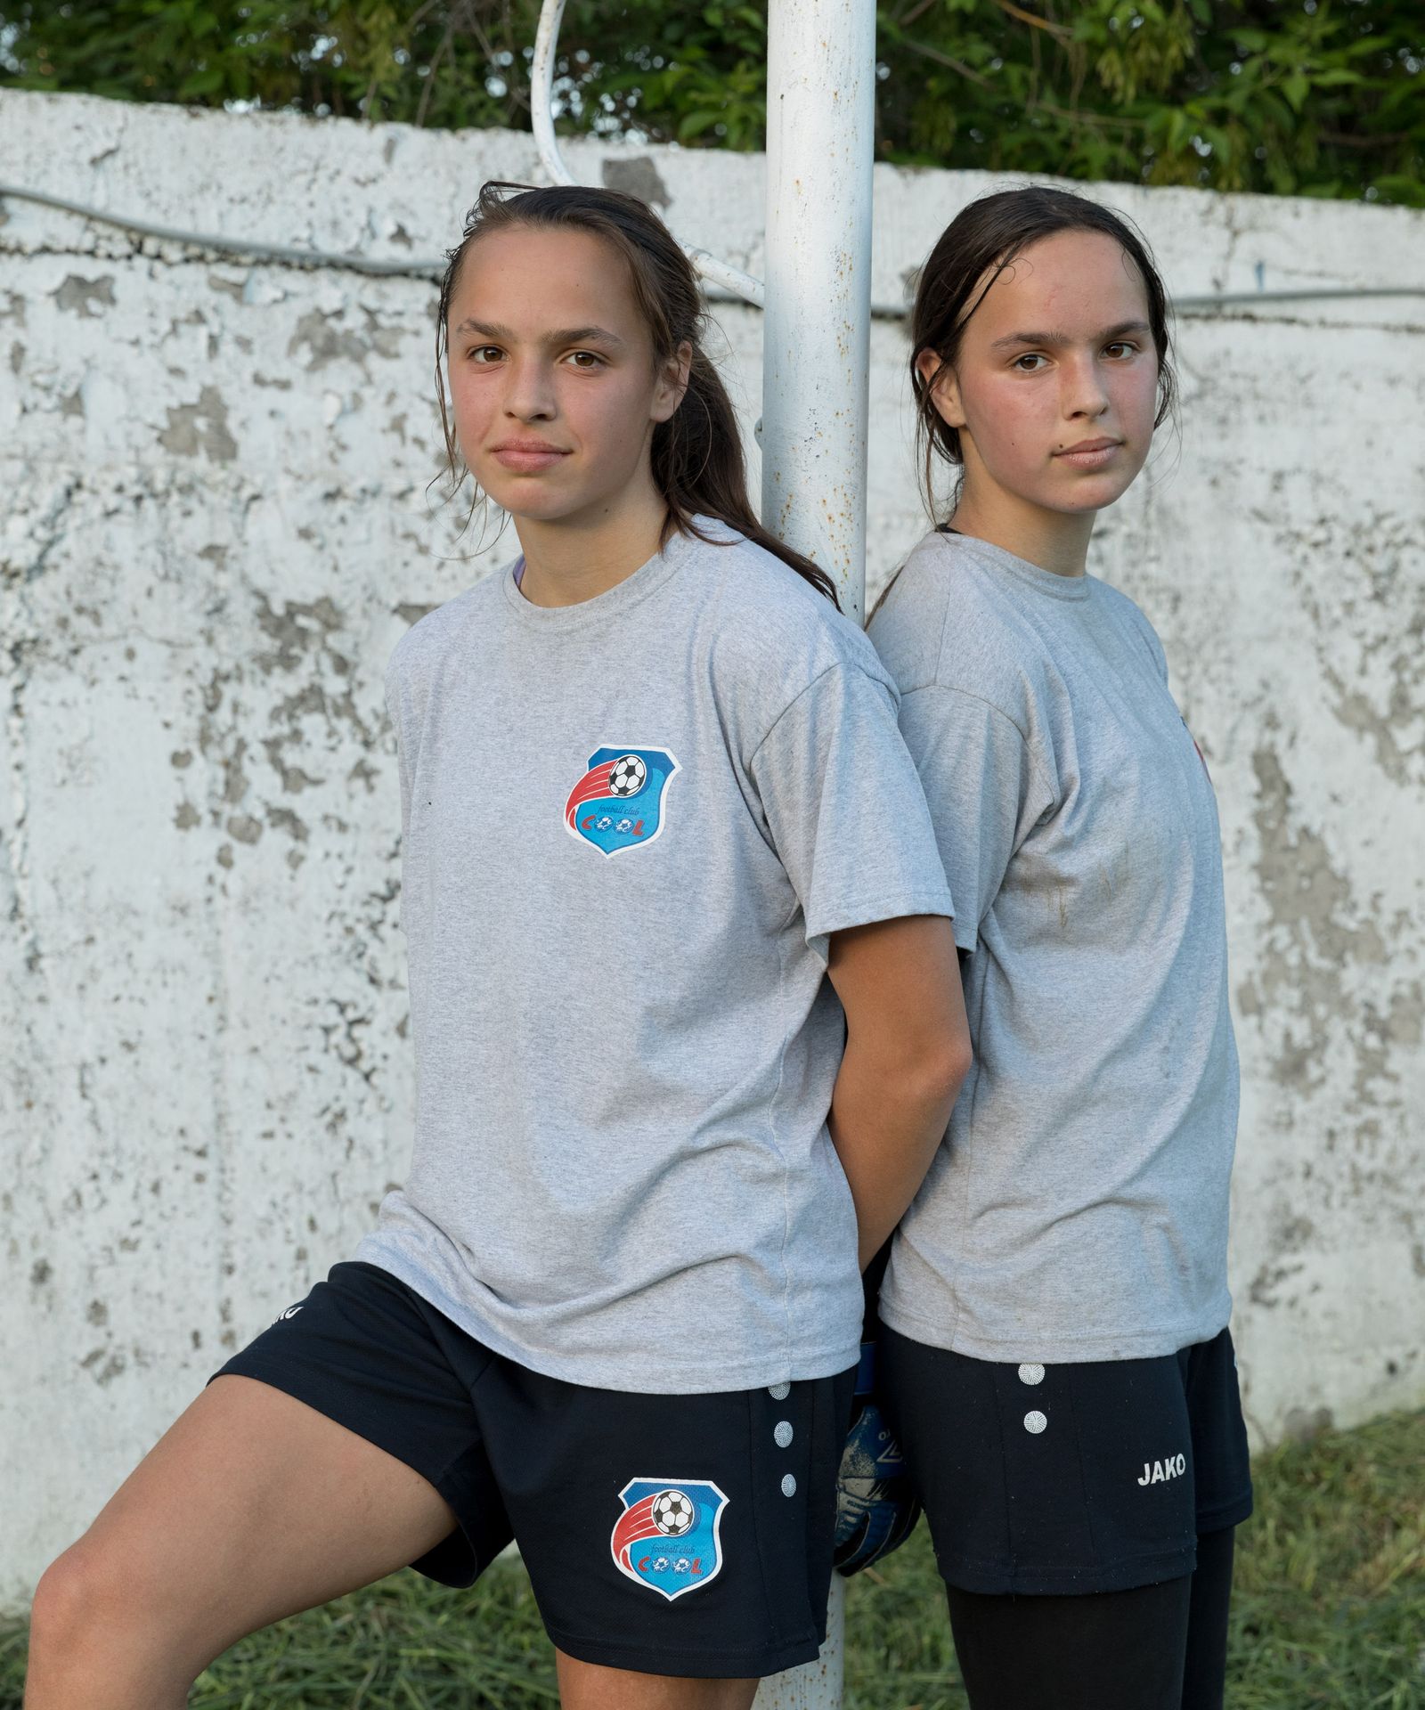
<svg viewBox="0 0 1425 1710">
<path fill-rule="evenodd" d="M 961 209 L 941 233 L 939 243 L 920 268 L 915 306 L 910 311 L 915 446 L 920 455 L 925 508 L 932 520 L 936 516 L 936 458 L 960 469 L 961 481 L 965 460 L 960 451 L 960 431 L 941 419 L 931 395 L 932 381 L 920 374 L 915 359 L 924 351 L 932 351 L 943 364 L 955 368 L 965 323 L 980 306 L 989 287 L 1032 243 L 1052 238 L 1061 231 L 1103 233 L 1138 268 L 1148 296 L 1148 325 L 1158 356 L 1158 414 L 1153 426 L 1160 428 L 1174 412 L 1177 376 L 1172 366 L 1168 298 L 1141 233 L 1122 214 L 1049 185 L 1026 185 L 1021 190 L 999 190 L 994 195 L 980 197 Z M 951 504 L 951 511 L 953 508 Z"/>
</svg>

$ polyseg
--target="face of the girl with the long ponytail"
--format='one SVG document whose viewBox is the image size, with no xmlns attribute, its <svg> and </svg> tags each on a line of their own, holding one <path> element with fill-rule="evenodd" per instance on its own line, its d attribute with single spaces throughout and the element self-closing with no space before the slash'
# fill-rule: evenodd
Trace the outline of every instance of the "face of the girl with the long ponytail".
<svg viewBox="0 0 1425 1710">
<path fill-rule="evenodd" d="M 477 239 L 450 299 L 450 400 L 479 486 L 517 518 L 607 522 L 652 482 L 686 361 L 655 369 L 628 265 L 587 231 Z"/>
</svg>

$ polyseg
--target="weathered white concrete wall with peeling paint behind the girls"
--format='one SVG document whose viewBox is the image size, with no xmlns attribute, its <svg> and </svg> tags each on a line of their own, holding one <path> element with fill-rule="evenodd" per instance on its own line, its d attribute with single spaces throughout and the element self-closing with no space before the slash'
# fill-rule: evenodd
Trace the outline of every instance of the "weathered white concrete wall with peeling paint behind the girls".
<svg viewBox="0 0 1425 1710">
<path fill-rule="evenodd" d="M 570 157 L 760 270 L 760 159 Z M 0 181 L 397 260 L 532 171 L 508 133 L 0 96 Z M 985 186 L 878 169 L 878 299 Z M 1420 214 L 1105 197 L 1180 294 L 1425 280 Z M 404 1170 L 381 670 L 491 563 L 426 492 L 433 308 L 0 203 L 0 1606 Z M 758 315 L 717 313 L 751 419 Z M 872 592 L 922 530 L 905 356 L 878 320 Z M 1425 301 L 1187 318 L 1180 368 L 1095 568 L 1221 800 L 1262 1440 L 1425 1399 Z"/>
</svg>

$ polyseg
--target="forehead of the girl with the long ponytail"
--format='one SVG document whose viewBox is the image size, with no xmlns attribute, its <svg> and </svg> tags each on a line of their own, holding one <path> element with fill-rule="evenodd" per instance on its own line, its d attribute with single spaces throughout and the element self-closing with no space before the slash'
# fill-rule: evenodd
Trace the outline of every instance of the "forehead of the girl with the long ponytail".
<svg viewBox="0 0 1425 1710">
<path fill-rule="evenodd" d="M 465 251 L 450 327 L 467 318 L 508 327 L 640 325 L 628 262 L 592 231 L 508 226 Z"/>
</svg>

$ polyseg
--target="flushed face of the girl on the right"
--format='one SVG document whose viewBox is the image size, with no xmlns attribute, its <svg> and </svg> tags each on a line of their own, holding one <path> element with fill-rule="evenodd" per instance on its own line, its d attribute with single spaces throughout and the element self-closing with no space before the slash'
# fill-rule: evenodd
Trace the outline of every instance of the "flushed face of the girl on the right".
<svg viewBox="0 0 1425 1710">
<path fill-rule="evenodd" d="M 931 351 L 919 366 L 960 429 L 973 504 L 1097 511 L 1148 457 L 1158 409 L 1148 294 L 1105 233 L 1030 245 L 970 315 L 955 369 L 936 373 Z"/>
</svg>

